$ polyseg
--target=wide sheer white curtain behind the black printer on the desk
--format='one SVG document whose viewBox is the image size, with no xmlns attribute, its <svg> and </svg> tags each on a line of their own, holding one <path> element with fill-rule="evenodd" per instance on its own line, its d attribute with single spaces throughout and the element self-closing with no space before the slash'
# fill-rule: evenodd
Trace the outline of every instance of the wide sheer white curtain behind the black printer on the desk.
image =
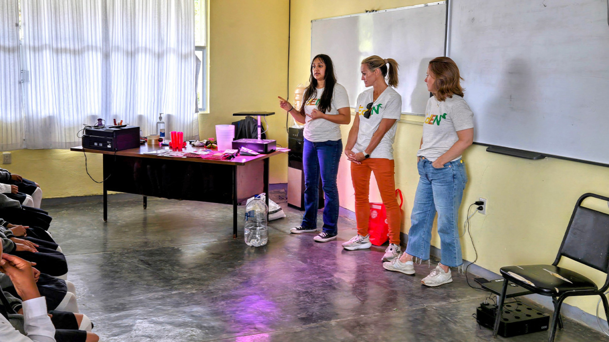
<svg viewBox="0 0 609 342">
<path fill-rule="evenodd" d="M 192 0 L 21 0 L 27 148 L 80 145 L 97 118 L 197 137 Z"/>
</svg>

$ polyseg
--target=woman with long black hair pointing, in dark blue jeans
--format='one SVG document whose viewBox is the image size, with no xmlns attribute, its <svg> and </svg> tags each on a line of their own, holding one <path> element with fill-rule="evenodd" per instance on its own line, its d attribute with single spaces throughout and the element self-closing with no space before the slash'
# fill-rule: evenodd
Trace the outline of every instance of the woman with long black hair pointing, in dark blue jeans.
<svg viewBox="0 0 609 342">
<path fill-rule="evenodd" d="M 305 216 L 302 223 L 291 228 L 292 233 L 317 231 L 317 203 L 319 201 L 319 177 L 322 176 L 325 207 L 323 230 L 315 236 L 317 242 L 336 239 L 339 218 L 339 190 L 336 176 L 342 154 L 340 125 L 351 122 L 349 98 L 345 87 L 336 83 L 334 66 L 328 55 L 317 55 L 311 63 L 309 86 L 300 110 L 279 98 L 281 108 L 294 120 L 305 124 L 303 166 L 305 169 Z"/>
</svg>

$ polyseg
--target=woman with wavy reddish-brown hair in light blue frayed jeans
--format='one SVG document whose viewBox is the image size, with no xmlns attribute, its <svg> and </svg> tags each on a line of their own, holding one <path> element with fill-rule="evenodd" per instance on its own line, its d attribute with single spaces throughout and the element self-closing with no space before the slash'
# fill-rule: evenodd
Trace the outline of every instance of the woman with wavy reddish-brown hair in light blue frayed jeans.
<svg viewBox="0 0 609 342">
<path fill-rule="evenodd" d="M 420 178 L 410 215 L 408 245 L 400 258 L 383 264 L 387 270 L 413 275 L 412 257 L 429 259 L 431 228 L 437 211 L 442 258 L 421 281 L 431 287 L 452 282 L 449 267 L 463 263 L 457 217 L 467 174 L 461 155 L 474 138 L 474 114 L 463 100 L 460 80 L 459 68 L 451 58 L 438 57 L 429 62 L 425 82 L 434 96 L 427 103 L 417 152 Z"/>
</svg>

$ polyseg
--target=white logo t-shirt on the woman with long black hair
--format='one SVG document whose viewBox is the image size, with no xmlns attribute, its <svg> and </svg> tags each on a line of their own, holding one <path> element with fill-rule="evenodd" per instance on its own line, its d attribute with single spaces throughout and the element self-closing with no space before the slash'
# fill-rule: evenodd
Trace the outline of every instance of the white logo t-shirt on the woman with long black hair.
<svg viewBox="0 0 609 342">
<path fill-rule="evenodd" d="M 317 89 L 317 95 L 311 100 L 305 103 L 305 113 L 311 114 L 313 109 L 317 109 L 317 105 L 322 98 L 323 88 Z M 329 115 L 339 114 L 339 109 L 349 107 L 349 97 L 347 96 L 347 89 L 340 84 L 334 84 L 334 94 L 332 94 L 332 102 L 330 110 L 326 112 Z M 328 140 L 340 140 L 340 124 L 328 121 L 324 118 L 316 118 L 313 120 L 311 117 L 305 117 L 305 131 L 303 132 L 305 139 L 309 142 L 319 143 L 327 142 Z"/>
</svg>

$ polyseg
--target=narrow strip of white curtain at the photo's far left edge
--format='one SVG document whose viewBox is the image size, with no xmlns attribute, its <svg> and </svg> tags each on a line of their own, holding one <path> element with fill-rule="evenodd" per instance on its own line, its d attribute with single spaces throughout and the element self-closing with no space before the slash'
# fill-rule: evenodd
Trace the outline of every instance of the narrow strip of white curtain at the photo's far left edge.
<svg viewBox="0 0 609 342">
<path fill-rule="evenodd" d="M 0 151 L 23 148 L 18 0 L 0 1 Z"/>
</svg>

